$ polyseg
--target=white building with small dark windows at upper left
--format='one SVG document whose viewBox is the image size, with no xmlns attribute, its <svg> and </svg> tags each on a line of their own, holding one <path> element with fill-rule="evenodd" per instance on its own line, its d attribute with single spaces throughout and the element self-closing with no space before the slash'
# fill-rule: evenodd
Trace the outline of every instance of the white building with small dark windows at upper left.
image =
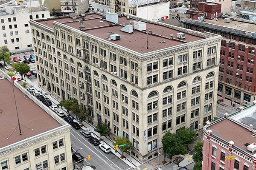
<svg viewBox="0 0 256 170">
<path fill-rule="evenodd" d="M 32 50 L 29 20 L 49 18 L 48 8 L 41 8 L 38 0 L 26 0 L 20 5 L 8 4 L 0 8 L 0 46 L 7 45 L 13 54 Z M 33 15 L 33 16 L 32 16 Z"/>
</svg>

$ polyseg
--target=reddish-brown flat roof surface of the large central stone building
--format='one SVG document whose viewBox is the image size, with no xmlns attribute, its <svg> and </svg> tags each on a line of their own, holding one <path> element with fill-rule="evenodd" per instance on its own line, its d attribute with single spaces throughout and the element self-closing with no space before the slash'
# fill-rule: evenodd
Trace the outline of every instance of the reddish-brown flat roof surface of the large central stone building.
<svg viewBox="0 0 256 170">
<path fill-rule="evenodd" d="M 120 45 L 122 47 L 128 48 L 130 50 L 136 51 L 141 54 L 145 54 L 151 51 L 157 51 L 164 48 L 169 48 L 176 45 L 182 45 L 186 44 L 186 42 L 193 42 L 197 40 L 204 39 L 203 37 L 197 37 L 192 34 L 186 34 L 186 38 L 183 39 L 183 41 L 179 40 L 170 40 L 169 35 L 173 34 L 174 38 L 177 37 L 177 33 L 180 31 L 177 31 L 172 28 L 168 28 L 165 26 L 160 26 L 157 24 L 151 24 L 148 23 L 148 30 L 152 30 L 152 33 L 158 34 L 158 35 L 148 35 L 148 49 L 146 48 L 146 32 L 144 31 L 137 31 L 134 30 L 133 34 L 128 34 L 126 32 L 120 31 L 123 26 L 121 25 L 127 25 L 130 24 L 130 21 L 133 21 L 133 19 L 127 20 L 126 17 L 118 17 L 118 23 L 121 25 L 113 25 L 113 23 L 103 20 L 104 17 L 98 14 L 92 14 L 86 15 L 84 20 L 84 26 L 85 30 L 84 32 L 91 34 L 93 36 L 96 36 L 98 38 L 101 38 L 102 40 L 107 40 L 109 42 L 115 43 L 116 45 Z M 76 21 L 73 21 L 71 17 L 60 17 L 56 19 L 49 19 L 47 20 L 47 23 L 45 21 L 38 21 L 39 23 L 48 26 L 50 28 L 53 28 L 52 22 L 56 21 L 58 23 L 62 23 L 64 25 L 70 26 L 72 28 L 79 30 L 79 20 L 81 21 L 81 18 L 76 19 Z M 113 26 L 109 26 L 112 24 Z M 103 27 L 102 27 L 103 26 Z M 119 34 L 121 36 L 120 40 L 111 41 L 108 39 L 111 33 Z M 163 35 L 163 38 L 161 37 Z M 168 37 L 168 38 L 164 38 Z M 161 41 L 165 41 L 165 43 L 160 43 Z"/>
</svg>

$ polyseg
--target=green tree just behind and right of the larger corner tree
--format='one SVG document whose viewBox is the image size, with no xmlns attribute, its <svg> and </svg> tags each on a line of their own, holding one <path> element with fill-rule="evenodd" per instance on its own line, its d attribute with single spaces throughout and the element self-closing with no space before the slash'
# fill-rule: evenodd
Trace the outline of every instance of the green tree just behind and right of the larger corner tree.
<svg viewBox="0 0 256 170">
<path fill-rule="evenodd" d="M 182 127 L 180 130 L 178 130 L 177 136 L 180 138 L 181 144 L 187 147 L 189 144 L 196 141 L 196 132 L 190 127 Z"/>
</svg>

